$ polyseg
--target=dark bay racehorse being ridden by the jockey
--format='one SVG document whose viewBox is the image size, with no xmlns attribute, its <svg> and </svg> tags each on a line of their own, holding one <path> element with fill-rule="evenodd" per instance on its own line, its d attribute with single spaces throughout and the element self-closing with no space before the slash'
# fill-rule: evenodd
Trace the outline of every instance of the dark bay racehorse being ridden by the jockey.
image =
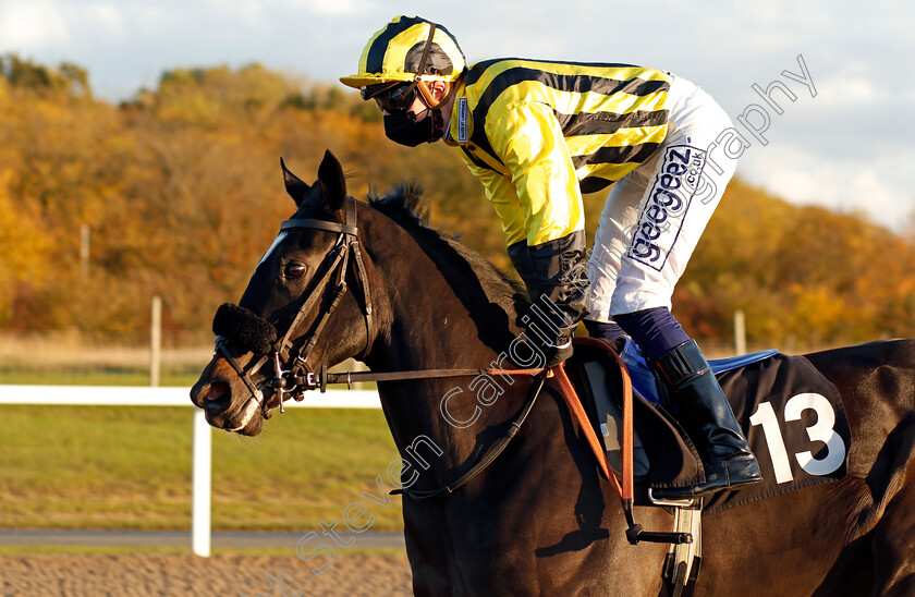
<svg viewBox="0 0 915 597">
<path fill-rule="evenodd" d="M 312 373 L 351 356 L 373 371 L 505 365 L 500 355 L 521 331 L 526 297 L 479 255 L 427 228 L 415 195 L 401 190 L 356 205 L 329 153 L 312 185 L 283 170 L 297 205 L 293 223 L 242 296 L 249 315 L 233 321 L 244 329 L 192 390 L 212 426 L 260 431 L 283 394 L 270 379 L 292 367 L 270 357 L 283 341 L 284 356 L 305 355 L 302 370 Z M 327 273 L 328 256 L 342 253 L 352 258 L 335 276 L 349 292 L 334 294 L 341 287 Z M 807 356 L 845 401 L 849 474 L 707 514 L 696 595 L 915 595 L 915 341 Z M 473 467 L 508 432 L 535 383 L 515 375 L 474 388 L 474 379 L 379 382 L 404 485 L 436 489 Z M 635 513 L 646 528 L 672 527 L 663 509 Z M 481 474 L 440 499 L 403 498 L 403 519 L 416 595 L 664 590 L 667 546 L 626 541 L 620 500 L 552 379 Z"/>
</svg>

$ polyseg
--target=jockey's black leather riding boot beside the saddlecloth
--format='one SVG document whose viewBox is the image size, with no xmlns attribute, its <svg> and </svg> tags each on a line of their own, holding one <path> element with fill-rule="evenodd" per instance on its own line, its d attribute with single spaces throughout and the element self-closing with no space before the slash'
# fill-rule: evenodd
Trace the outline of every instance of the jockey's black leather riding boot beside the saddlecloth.
<svg viewBox="0 0 915 597">
<path fill-rule="evenodd" d="M 694 487 L 654 489 L 662 499 L 690 499 L 762 480 L 728 398 L 695 340 L 680 344 L 654 364 L 671 390 L 678 421 L 703 459 L 706 482 Z"/>
</svg>

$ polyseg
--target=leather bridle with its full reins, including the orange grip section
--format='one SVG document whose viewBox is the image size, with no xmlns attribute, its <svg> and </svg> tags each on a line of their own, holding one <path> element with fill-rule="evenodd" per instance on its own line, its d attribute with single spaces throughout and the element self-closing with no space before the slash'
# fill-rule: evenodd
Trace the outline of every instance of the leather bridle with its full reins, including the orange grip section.
<svg viewBox="0 0 915 597">
<path fill-rule="evenodd" d="M 489 447 L 486 451 L 484 456 L 467 472 L 461 475 L 454 482 L 440 487 L 434 490 L 416 490 L 410 488 L 399 488 L 391 491 L 392 495 L 403 494 L 410 496 L 416 500 L 428 500 L 448 496 L 452 494 L 455 489 L 463 486 L 474 477 L 476 477 L 479 473 L 481 473 L 487 466 L 489 466 L 508 447 L 509 442 L 517 435 L 518 430 L 521 430 L 521 426 L 527 418 L 527 415 L 534 409 L 534 404 L 537 401 L 537 397 L 540 395 L 540 391 L 544 388 L 546 379 L 548 377 L 556 377 L 557 381 L 559 382 L 559 387 L 562 393 L 565 403 L 572 413 L 572 415 L 577 419 L 578 426 L 582 429 L 582 434 L 584 434 L 585 439 L 594 453 L 595 458 L 597 459 L 597 463 L 599 465 L 600 472 L 603 474 L 606 478 L 612 482 L 613 488 L 617 490 L 617 494 L 620 496 L 623 502 L 623 511 L 626 515 L 626 520 L 629 522 L 630 528 L 626 532 L 626 537 L 630 539 L 630 543 L 638 543 L 638 540 L 647 540 L 647 541 L 660 541 L 660 543 L 685 543 L 685 540 L 681 537 L 680 540 L 671 540 L 671 537 L 675 534 L 666 534 L 666 533 L 646 533 L 642 531 L 639 525 L 636 525 L 632 517 L 632 508 L 633 508 L 633 494 L 634 494 L 634 479 L 633 479 L 633 440 L 632 440 L 632 381 L 629 376 L 629 371 L 626 369 L 625 364 L 622 362 L 620 356 L 613 351 L 610 346 L 605 344 L 603 342 L 585 338 L 585 339 L 575 339 L 576 343 L 588 344 L 591 346 L 599 346 L 602 350 L 609 352 L 617 361 L 620 367 L 620 374 L 622 376 L 623 381 L 623 471 L 622 471 L 622 478 L 623 483 L 622 486 L 620 482 L 617 479 L 617 476 L 610 470 L 610 466 L 607 461 L 607 453 L 603 450 L 600 440 L 598 439 L 594 427 L 591 426 L 590 421 L 585 413 L 584 406 L 582 405 L 581 400 L 578 399 L 572 382 L 569 380 L 569 377 L 565 374 L 562 365 L 556 366 L 552 369 L 544 369 L 544 368 L 534 368 L 534 369 L 498 369 L 498 368 L 476 368 L 476 369 L 425 369 L 425 370 L 410 370 L 410 371 L 390 371 L 390 373 L 373 373 L 373 371 L 345 371 L 345 373 L 329 373 L 327 370 L 327 365 L 322 365 L 320 370 L 316 374 L 315 371 L 308 370 L 308 356 L 310 355 L 312 351 L 314 350 L 315 345 L 317 344 L 318 338 L 320 337 L 321 332 L 324 331 L 325 326 L 327 325 L 328 319 L 337 309 L 340 304 L 341 298 L 347 291 L 346 285 L 346 272 L 350 267 L 351 263 L 351 255 L 352 255 L 352 263 L 355 267 L 355 275 L 356 279 L 358 280 L 359 285 L 362 287 L 362 294 L 363 294 L 363 316 L 365 319 L 365 327 L 366 327 L 366 344 L 365 349 L 359 356 L 361 360 L 364 360 L 369 350 L 371 349 L 371 344 L 374 343 L 374 338 L 376 334 L 375 324 L 373 318 L 373 305 L 371 305 L 371 292 L 369 289 L 368 282 L 368 273 L 365 268 L 365 261 L 362 257 L 362 252 L 359 249 L 359 242 L 358 242 L 358 228 L 356 226 L 356 200 L 353 197 L 346 197 L 346 218 L 344 223 L 338 222 L 329 222 L 325 220 L 315 220 L 315 219 L 305 219 L 305 218 L 293 218 L 289 220 L 284 220 L 280 224 L 280 231 L 284 230 L 293 230 L 293 229 L 310 229 L 310 230 L 322 230 L 327 232 L 335 232 L 337 233 L 337 241 L 334 242 L 333 248 L 328 252 L 325 256 L 321 265 L 318 268 L 318 275 L 313 278 L 312 282 L 309 282 L 309 289 L 303 293 L 306 294 L 307 297 L 302 302 L 295 317 L 293 317 L 292 322 L 290 324 L 289 328 L 286 328 L 285 333 L 283 337 L 276 342 L 271 342 L 270 349 L 272 351 L 267 350 L 265 353 L 260 355 L 259 358 L 253 361 L 253 364 L 248 364 L 248 366 L 243 367 L 234 356 L 232 356 L 231 351 L 229 350 L 229 345 L 227 340 L 223 336 L 217 336 L 216 339 L 216 350 L 222 353 L 222 356 L 229 362 L 242 381 L 251 391 L 251 398 L 248 399 L 256 401 L 257 405 L 260 406 L 264 417 L 270 417 L 270 410 L 266 406 L 264 401 L 264 392 L 251 377 L 252 371 L 259 370 L 267 361 L 272 358 L 273 364 L 273 378 L 269 381 L 270 386 L 273 388 L 273 391 L 279 394 L 279 405 L 280 405 L 280 413 L 283 413 L 283 401 L 286 398 L 286 394 L 290 394 L 290 398 L 301 401 L 305 398 L 305 392 L 307 390 L 313 389 L 320 389 L 321 392 L 326 391 L 328 383 L 346 383 L 347 387 L 351 386 L 353 382 L 358 381 L 399 381 L 399 380 L 412 380 L 412 379 L 441 379 L 441 378 L 449 378 L 449 377 L 469 377 L 469 376 L 479 376 L 479 375 L 525 375 L 525 376 L 533 376 L 534 377 L 534 386 L 532 388 L 532 392 L 527 401 L 525 402 L 524 406 L 521 409 L 517 415 L 515 415 L 514 419 L 509 425 L 509 430 L 505 436 L 500 438 L 496 443 Z M 329 304 L 326 308 L 320 308 L 319 301 L 322 298 L 325 290 L 331 283 L 332 278 L 337 277 L 335 287 L 332 291 L 330 296 Z M 301 349 L 295 349 L 293 344 L 293 336 L 295 331 L 302 326 L 302 324 L 306 320 L 306 318 L 313 314 L 315 308 L 318 308 L 318 313 L 313 324 L 313 330 L 308 336 L 306 342 Z M 242 309 L 244 310 L 244 309 Z M 251 317 L 260 319 L 257 315 L 251 314 Z M 266 321 L 260 319 L 265 326 L 269 326 Z M 274 330 L 271 330 L 274 331 Z M 269 341 L 272 341 L 271 337 Z M 288 367 L 288 368 L 284 368 Z M 317 376 L 317 379 L 315 379 Z M 248 402 L 251 405 L 251 402 Z M 253 405 L 251 405 L 253 406 Z"/>
</svg>

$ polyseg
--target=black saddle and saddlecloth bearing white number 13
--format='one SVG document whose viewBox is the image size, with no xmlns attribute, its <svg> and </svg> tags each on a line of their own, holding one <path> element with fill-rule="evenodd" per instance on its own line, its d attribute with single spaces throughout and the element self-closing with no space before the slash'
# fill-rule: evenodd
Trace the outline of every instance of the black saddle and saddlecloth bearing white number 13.
<svg viewBox="0 0 915 597">
<path fill-rule="evenodd" d="M 565 370 L 619 476 L 620 365 L 599 344 L 576 342 Z M 626 341 L 620 356 L 633 386 L 633 497 L 635 505 L 652 505 L 651 488 L 704 480 L 701 459 L 659 399 L 654 375 L 632 341 Z M 704 507 L 706 512 L 845 477 L 851 430 L 844 406 L 835 387 L 806 358 L 772 350 L 709 364 L 756 453 L 764 482 L 713 496 Z"/>
</svg>

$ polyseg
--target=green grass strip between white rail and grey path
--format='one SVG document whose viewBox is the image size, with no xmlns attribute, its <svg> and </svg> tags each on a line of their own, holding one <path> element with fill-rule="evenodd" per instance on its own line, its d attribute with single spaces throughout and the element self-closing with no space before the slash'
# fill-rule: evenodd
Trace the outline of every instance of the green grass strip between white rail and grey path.
<svg viewBox="0 0 915 597">
<path fill-rule="evenodd" d="M 0 527 L 187 528 L 192 410 L 0 406 Z M 374 531 L 401 528 L 377 495 L 396 459 L 377 410 L 274 412 L 257 438 L 213 430 L 216 529 L 318 528 L 363 501 Z"/>
</svg>

